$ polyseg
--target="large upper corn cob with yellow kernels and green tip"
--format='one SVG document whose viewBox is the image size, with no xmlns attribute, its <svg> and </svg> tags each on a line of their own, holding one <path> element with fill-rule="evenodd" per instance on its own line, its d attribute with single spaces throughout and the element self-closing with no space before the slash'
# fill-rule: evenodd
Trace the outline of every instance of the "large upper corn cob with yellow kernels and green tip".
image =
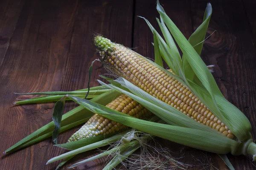
<svg viewBox="0 0 256 170">
<path fill-rule="evenodd" d="M 123 77 L 148 94 L 166 102 L 195 121 L 207 125 L 230 139 L 229 128 L 221 122 L 188 88 L 164 73 L 129 48 L 96 36 L 96 48 L 103 66 L 118 77 Z"/>
</svg>

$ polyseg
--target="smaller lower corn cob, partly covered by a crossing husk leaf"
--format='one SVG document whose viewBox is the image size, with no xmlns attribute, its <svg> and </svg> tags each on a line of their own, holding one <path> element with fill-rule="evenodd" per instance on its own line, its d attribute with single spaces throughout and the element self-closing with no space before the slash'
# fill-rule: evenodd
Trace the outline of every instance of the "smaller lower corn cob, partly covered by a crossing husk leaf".
<svg viewBox="0 0 256 170">
<path fill-rule="evenodd" d="M 138 102 L 124 94 L 118 96 L 106 105 L 106 107 L 140 119 L 152 114 Z M 74 133 L 67 142 L 73 142 L 100 134 L 107 135 L 122 130 L 125 127 L 125 125 L 122 125 L 119 122 L 95 114 L 76 133 Z"/>
</svg>

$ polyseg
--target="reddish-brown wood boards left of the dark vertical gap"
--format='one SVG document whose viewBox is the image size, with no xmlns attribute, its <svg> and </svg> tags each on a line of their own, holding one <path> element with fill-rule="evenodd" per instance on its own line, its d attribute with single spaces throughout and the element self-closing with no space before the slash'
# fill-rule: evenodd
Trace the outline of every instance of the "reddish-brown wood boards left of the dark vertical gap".
<svg viewBox="0 0 256 170">
<path fill-rule="evenodd" d="M 126 7 L 125 10 L 122 6 Z M 95 3 L 68 0 L 3 3 L 5 11 L 0 12 L 10 17 L 0 20 L 3 23 L 0 24 L 0 36 L 7 37 L 9 43 L 0 45 L 3 54 L 0 88 L 5 96 L 0 99 L 1 170 L 55 169 L 59 162 L 45 164 L 64 150 L 54 147 L 51 139 L 3 156 L 5 149 L 52 120 L 54 104 L 13 107 L 12 102 L 17 97 L 13 93 L 87 88 L 87 69 L 90 62 L 98 58 L 91 45 L 92 34 L 95 31 L 131 46 L 132 7 L 128 1 L 106 0 Z M 14 10 L 16 18 L 11 16 Z M 99 78 L 94 75 L 102 73 L 105 73 L 103 69 L 96 70 L 93 77 Z M 95 85 L 99 84 L 92 79 L 91 86 Z M 67 102 L 64 111 L 75 106 L 73 102 Z M 58 141 L 67 142 L 77 128 L 61 134 Z M 89 169 L 99 169 L 101 162 L 104 160 L 96 161 Z M 67 169 L 67 166 L 62 169 Z"/>
</svg>

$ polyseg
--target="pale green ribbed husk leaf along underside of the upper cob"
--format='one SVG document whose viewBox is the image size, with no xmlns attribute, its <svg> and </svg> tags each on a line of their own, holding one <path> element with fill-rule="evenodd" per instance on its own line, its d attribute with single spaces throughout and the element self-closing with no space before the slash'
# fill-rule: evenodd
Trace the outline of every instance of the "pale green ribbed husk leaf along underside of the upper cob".
<svg viewBox="0 0 256 170">
<path fill-rule="evenodd" d="M 137 86 L 133 85 L 132 83 L 128 82 L 127 80 L 120 77 L 116 81 L 119 82 L 121 85 L 123 85 L 125 88 L 130 89 L 130 91 L 133 94 L 128 91 L 122 90 L 118 87 L 115 87 L 113 85 L 106 85 L 104 82 L 101 82 L 101 81 L 99 81 L 99 83 L 107 86 L 108 88 L 113 88 L 114 90 L 119 91 L 120 93 L 126 94 L 127 96 L 131 97 L 132 99 L 142 104 L 145 108 L 147 108 L 149 111 L 151 111 L 152 113 L 154 113 L 155 115 L 157 115 L 158 117 L 160 117 L 161 119 L 169 123 L 170 125 L 190 127 L 190 128 L 199 129 L 199 130 L 204 129 L 205 131 L 222 135 L 218 131 L 213 130 L 208 126 L 205 126 L 196 122 L 195 120 L 191 119 L 190 117 L 186 116 L 185 114 L 181 113 L 180 111 L 166 104 L 165 102 L 162 102 L 161 100 L 154 98 L 153 96 L 146 93 L 145 91 L 138 88 Z M 98 107 L 96 106 L 96 104 L 93 104 L 93 102 L 91 101 L 86 101 L 86 102 L 90 103 L 90 105 L 94 105 L 95 107 Z M 111 113 L 113 112 L 114 111 L 112 111 Z"/>
</svg>

